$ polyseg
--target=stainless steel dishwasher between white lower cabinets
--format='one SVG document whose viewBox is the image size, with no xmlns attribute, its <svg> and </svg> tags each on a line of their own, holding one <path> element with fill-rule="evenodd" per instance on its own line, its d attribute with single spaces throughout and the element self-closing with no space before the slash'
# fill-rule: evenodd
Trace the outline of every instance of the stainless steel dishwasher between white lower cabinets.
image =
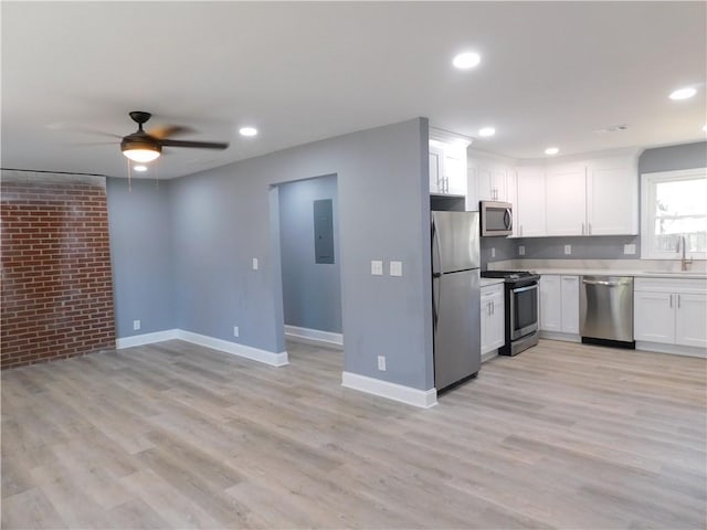
<svg viewBox="0 0 707 530">
<path fill-rule="evenodd" d="M 635 348 L 633 277 L 582 276 L 579 324 L 582 342 Z"/>
</svg>

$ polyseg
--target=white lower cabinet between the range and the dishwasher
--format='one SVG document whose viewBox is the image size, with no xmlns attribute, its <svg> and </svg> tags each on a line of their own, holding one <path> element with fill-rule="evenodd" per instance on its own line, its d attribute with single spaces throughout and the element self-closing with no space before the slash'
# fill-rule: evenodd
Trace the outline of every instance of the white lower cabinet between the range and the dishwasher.
<svg viewBox="0 0 707 530">
<path fill-rule="evenodd" d="M 579 335 L 579 276 L 540 277 L 540 331 Z"/>
</svg>

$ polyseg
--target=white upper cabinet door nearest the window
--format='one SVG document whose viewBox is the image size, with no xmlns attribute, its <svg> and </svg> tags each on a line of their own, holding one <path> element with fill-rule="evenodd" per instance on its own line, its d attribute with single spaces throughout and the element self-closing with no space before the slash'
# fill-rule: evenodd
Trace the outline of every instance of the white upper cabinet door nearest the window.
<svg viewBox="0 0 707 530">
<path fill-rule="evenodd" d="M 639 170 L 632 157 L 600 159 L 589 163 L 587 233 L 639 233 Z"/>
</svg>

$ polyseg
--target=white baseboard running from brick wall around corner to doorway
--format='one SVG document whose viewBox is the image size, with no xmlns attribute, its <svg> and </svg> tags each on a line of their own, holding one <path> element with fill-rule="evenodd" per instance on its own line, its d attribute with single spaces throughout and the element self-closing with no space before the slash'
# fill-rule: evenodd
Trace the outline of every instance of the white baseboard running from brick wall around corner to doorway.
<svg viewBox="0 0 707 530">
<path fill-rule="evenodd" d="M 157 331 L 155 333 L 136 335 L 134 337 L 117 339 L 115 342 L 116 348 L 118 350 L 122 350 L 124 348 L 151 344 L 154 342 L 161 342 L 163 340 L 172 339 L 183 340 L 186 342 L 191 342 L 192 344 L 204 346 L 213 350 L 223 351 L 233 356 L 244 357 L 246 359 L 264 362 L 265 364 L 270 364 L 273 367 L 284 367 L 288 363 L 286 351 L 273 353 L 272 351 L 265 351 L 258 348 L 239 344 L 238 342 L 230 342 L 228 340 L 215 339 L 205 335 L 192 333 L 191 331 L 184 331 L 183 329 L 169 329 L 166 331 Z"/>
</svg>

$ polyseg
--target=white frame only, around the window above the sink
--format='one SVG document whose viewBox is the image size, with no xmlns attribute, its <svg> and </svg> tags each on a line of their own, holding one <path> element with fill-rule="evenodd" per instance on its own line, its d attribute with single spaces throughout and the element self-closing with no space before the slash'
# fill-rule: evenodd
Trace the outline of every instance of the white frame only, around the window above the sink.
<svg viewBox="0 0 707 530">
<path fill-rule="evenodd" d="M 641 259 L 679 259 L 682 253 L 653 250 L 655 227 L 655 187 L 679 180 L 707 179 L 707 168 L 680 169 L 641 174 Z M 705 210 L 707 215 L 707 208 Z M 689 252 L 686 257 L 707 259 L 707 252 Z"/>
</svg>

